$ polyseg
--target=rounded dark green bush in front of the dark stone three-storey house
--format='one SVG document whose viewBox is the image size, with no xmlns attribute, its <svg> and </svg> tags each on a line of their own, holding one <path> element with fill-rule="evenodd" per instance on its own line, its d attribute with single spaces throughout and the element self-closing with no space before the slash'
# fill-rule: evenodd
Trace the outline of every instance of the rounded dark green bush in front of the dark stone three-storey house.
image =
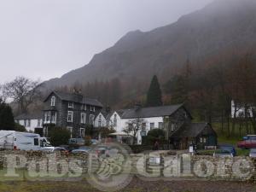
<svg viewBox="0 0 256 192">
<path fill-rule="evenodd" d="M 70 138 L 70 131 L 66 128 L 51 127 L 49 131 L 49 141 L 53 146 L 67 145 Z"/>
</svg>

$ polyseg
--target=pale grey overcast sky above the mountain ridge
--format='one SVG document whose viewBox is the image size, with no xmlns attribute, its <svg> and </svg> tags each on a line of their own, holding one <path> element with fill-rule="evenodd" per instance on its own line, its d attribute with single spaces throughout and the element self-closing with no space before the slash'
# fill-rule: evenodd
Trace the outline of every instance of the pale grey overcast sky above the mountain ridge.
<svg viewBox="0 0 256 192">
<path fill-rule="evenodd" d="M 0 84 L 61 77 L 125 33 L 176 21 L 212 0 L 0 0 Z"/>
</svg>

